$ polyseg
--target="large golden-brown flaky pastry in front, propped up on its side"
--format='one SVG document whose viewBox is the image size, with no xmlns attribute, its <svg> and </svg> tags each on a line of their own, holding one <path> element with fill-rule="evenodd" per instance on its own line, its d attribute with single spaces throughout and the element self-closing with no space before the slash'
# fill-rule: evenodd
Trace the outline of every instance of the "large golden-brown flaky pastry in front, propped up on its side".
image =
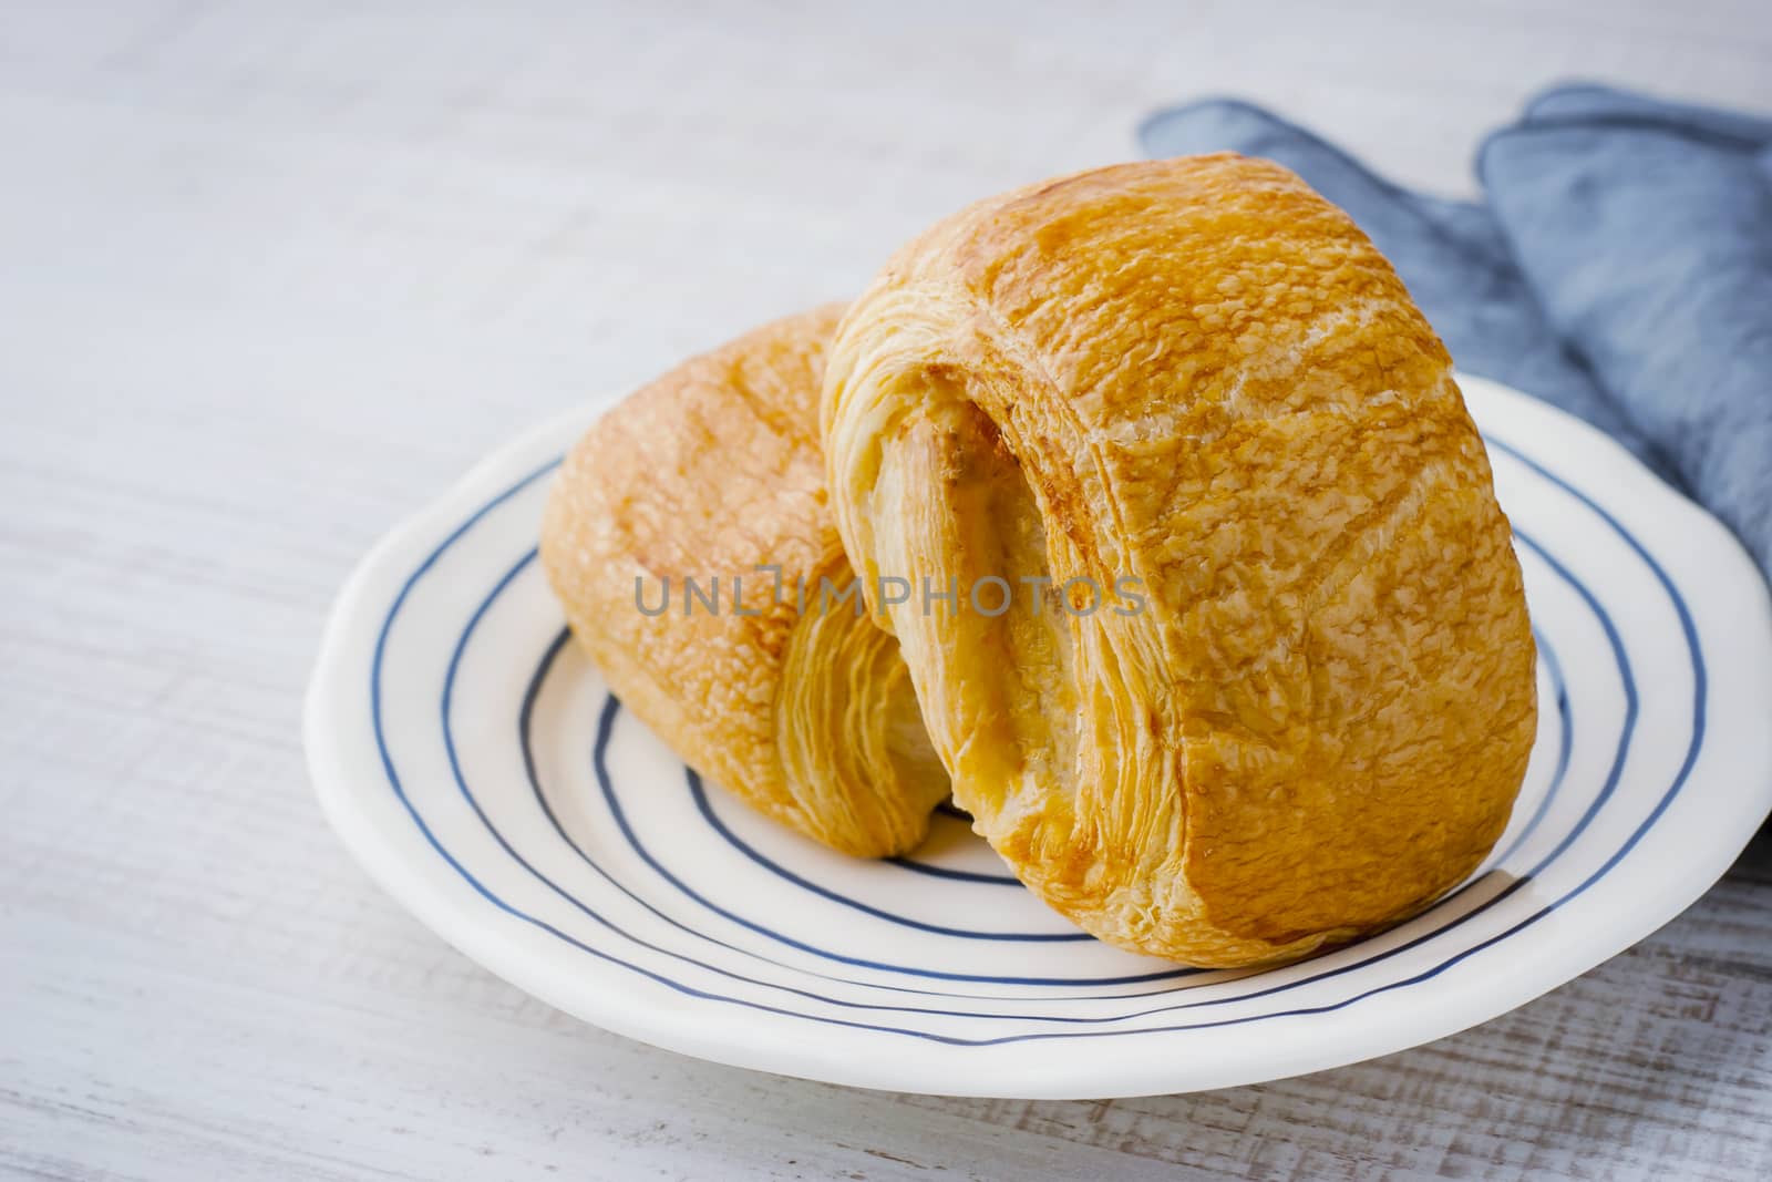
<svg viewBox="0 0 1772 1182">
<path fill-rule="evenodd" d="M 1285 168 L 1123 165 L 943 222 L 845 315 L 822 434 L 955 801 L 1095 936 L 1294 957 L 1501 835 L 1536 704 L 1488 459 L 1395 271 Z"/>
</svg>

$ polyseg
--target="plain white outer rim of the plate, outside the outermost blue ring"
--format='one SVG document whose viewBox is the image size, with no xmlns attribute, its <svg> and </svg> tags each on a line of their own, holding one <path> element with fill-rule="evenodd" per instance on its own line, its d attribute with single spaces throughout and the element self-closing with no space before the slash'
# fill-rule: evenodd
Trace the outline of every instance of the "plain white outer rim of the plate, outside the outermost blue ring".
<svg viewBox="0 0 1772 1182">
<path fill-rule="evenodd" d="M 1660 502 L 1676 517 L 1683 517 L 1680 528 L 1689 532 L 1687 546 L 1690 553 L 1703 555 L 1705 560 L 1706 592 L 1728 588 L 1744 597 L 1745 603 L 1738 604 L 1742 618 L 1737 624 L 1742 631 L 1758 633 L 1758 643 L 1751 645 L 1751 650 L 1761 656 L 1772 654 L 1772 594 L 1768 594 L 1767 583 L 1745 548 L 1721 521 L 1662 482 L 1611 436 L 1586 422 L 1490 379 L 1464 372 L 1457 374 L 1457 379 L 1465 392 L 1476 388 L 1481 397 L 1506 404 L 1510 416 L 1524 415 L 1527 420 L 1538 416 L 1550 436 L 1574 432 L 1582 445 L 1584 468 L 1598 471 L 1604 477 L 1604 487 L 1607 491 L 1618 489 L 1632 509 Z M 1457 975 L 1442 978 L 1434 994 L 1435 1005 L 1425 1007 L 1432 1012 L 1432 1019 L 1423 1019 L 1418 1014 L 1412 1023 L 1396 1021 L 1396 1015 L 1391 1014 L 1377 1024 L 1370 1019 L 1345 1023 L 1338 1037 L 1301 1040 L 1308 1046 L 1294 1049 L 1292 1054 L 1269 1054 L 1260 1065 L 1240 1065 L 1240 1070 L 1239 1065 L 1232 1063 L 1185 1061 L 1170 1070 L 1150 1067 L 1136 1070 L 1141 1067 L 1138 1058 L 1125 1056 L 1122 1070 L 1113 1070 L 1111 1063 L 1106 1069 L 1093 1065 L 1093 1070 L 1081 1070 L 1083 1065 L 1072 1061 L 1067 1063 L 1067 1070 L 1030 1077 L 1024 1069 L 1017 1069 L 1010 1077 L 992 1072 L 989 1054 L 976 1054 L 991 1047 L 962 1047 L 962 1051 L 975 1054 L 973 1063 L 966 1065 L 969 1070 L 944 1053 L 893 1056 L 891 1067 L 881 1067 L 865 1061 L 868 1056 L 833 1051 L 822 1040 L 744 1037 L 746 1023 L 735 1023 L 711 1008 L 647 1005 L 641 991 L 624 994 L 622 989 L 583 989 L 581 982 L 590 980 L 587 971 L 576 969 L 562 975 L 549 964 L 549 957 L 537 957 L 523 948 L 507 930 L 507 916 L 493 909 L 459 907 L 448 898 L 447 890 L 439 891 L 434 879 L 438 868 L 443 867 L 441 858 L 413 829 L 393 831 L 376 810 L 365 808 L 367 794 L 388 790 L 388 778 L 379 766 L 365 767 L 361 751 L 349 750 L 353 727 L 361 728 L 363 725 L 360 718 L 353 718 L 353 705 L 361 695 L 349 691 L 349 680 L 365 672 L 353 668 L 353 657 L 360 659 L 365 650 L 374 649 L 379 617 L 386 613 L 395 599 L 395 588 L 406 583 L 424 555 L 439 539 L 454 533 L 462 519 L 489 496 L 501 493 L 514 478 L 535 470 L 544 459 L 558 455 L 562 439 L 571 441 L 611 404 L 599 402 L 567 411 L 525 431 L 477 463 L 443 494 L 408 516 L 370 548 L 346 579 L 328 613 L 305 698 L 303 743 L 323 812 L 356 861 L 383 890 L 434 934 L 496 976 L 555 1008 L 613 1033 L 753 1070 L 851 1086 L 941 1095 L 1102 1099 L 1191 1092 L 1327 1070 L 1421 1046 L 1492 1021 L 1625 952 L 1683 913 L 1721 879 L 1753 840 L 1767 813 L 1772 812 L 1772 760 L 1765 760 L 1760 769 L 1760 783 L 1751 783 L 1753 773 L 1745 771 L 1742 790 L 1733 797 L 1724 797 L 1724 803 L 1735 805 L 1737 817 L 1724 817 L 1728 824 L 1719 828 L 1719 840 L 1708 844 L 1701 856 L 1676 867 L 1659 884 L 1660 890 L 1648 900 L 1648 906 L 1621 916 L 1616 925 L 1605 929 L 1605 936 L 1570 941 L 1559 948 L 1559 955 L 1533 959 L 1524 971 L 1501 975 L 1499 980 L 1490 980 L 1485 987 Z M 1522 455 L 1527 463 L 1536 459 L 1526 452 Z M 1549 471 L 1554 473 L 1554 470 Z M 540 471 L 535 473 L 535 477 L 540 475 Z M 1577 494 L 1581 493 L 1577 491 Z M 1607 503 L 1616 507 L 1611 500 Z M 1598 503 L 1595 505 L 1598 507 Z M 1602 512 L 1607 510 L 1602 509 Z M 1751 659 L 1740 656 L 1731 656 L 1728 661 L 1728 668 L 1733 672 L 1751 665 Z M 1772 707 L 1772 661 L 1761 661 L 1749 673 L 1751 680 L 1756 682 L 1749 689 L 1758 691 L 1753 696 Z M 1772 750 L 1772 737 L 1767 737 L 1761 746 Z M 1648 829 L 1644 829 L 1646 833 Z M 1729 833 L 1738 833 L 1738 842 L 1728 836 Z M 415 863 L 415 852 L 420 854 L 422 861 L 432 865 Z M 563 976 L 571 980 L 563 980 Z M 579 987 L 572 987 L 574 982 Z M 640 999 L 638 1005 L 633 1001 L 634 998 Z M 1421 1008 L 1418 1007 L 1418 1010 Z M 1162 1038 L 1173 1033 L 1196 1031 L 1125 1031 L 1125 1037 Z M 831 1042 L 842 1044 L 842 1038 Z M 953 1047 L 943 1047 L 943 1051 L 953 1051 Z"/>
</svg>

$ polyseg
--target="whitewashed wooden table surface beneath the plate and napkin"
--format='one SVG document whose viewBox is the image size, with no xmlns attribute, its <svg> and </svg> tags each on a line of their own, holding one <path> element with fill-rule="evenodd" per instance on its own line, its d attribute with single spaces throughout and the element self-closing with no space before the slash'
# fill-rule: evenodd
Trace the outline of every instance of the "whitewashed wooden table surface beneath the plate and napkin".
<svg viewBox="0 0 1772 1182">
<path fill-rule="evenodd" d="M 1441 191 L 1558 76 L 1772 106 L 1763 0 L 1185 7 L 5 4 L 0 1173 L 1772 1177 L 1765 838 L 1481 1030 L 1058 1104 L 588 1030 L 323 824 L 301 689 L 381 530 L 1157 105 L 1244 94 Z"/>
</svg>

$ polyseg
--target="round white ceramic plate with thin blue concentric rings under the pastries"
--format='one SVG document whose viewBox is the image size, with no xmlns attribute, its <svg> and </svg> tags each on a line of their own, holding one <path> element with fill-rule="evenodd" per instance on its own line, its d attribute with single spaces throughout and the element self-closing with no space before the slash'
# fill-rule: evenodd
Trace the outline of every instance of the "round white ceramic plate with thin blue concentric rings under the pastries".
<svg viewBox="0 0 1772 1182">
<path fill-rule="evenodd" d="M 1772 604 L 1740 546 L 1593 429 L 1462 379 L 1513 519 L 1540 734 L 1513 822 L 1414 921 L 1283 969 L 1095 943 L 957 817 L 859 861 L 703 787 L 565 643 L 535 562 L 588 416 L 498 452 L 338 597 L 307 748 L 424 923 L 608 1030 L 870 1088 L 1108 1097 L 1274 1079 L 1503 1014 L 1698 898 L 1772 806 Z"/>
</svg>

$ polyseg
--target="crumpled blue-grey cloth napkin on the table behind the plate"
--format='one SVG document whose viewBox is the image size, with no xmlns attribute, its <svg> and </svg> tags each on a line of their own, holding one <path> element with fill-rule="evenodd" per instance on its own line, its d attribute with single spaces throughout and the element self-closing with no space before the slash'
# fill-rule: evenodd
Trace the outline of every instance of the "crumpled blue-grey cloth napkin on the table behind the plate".
<svg viewBox="0 0 1772 1182">
<path fill-rule="evenodd" d="M 1485 202 L 1403 190 L 1232 99 L 1159 112 L 1139 140 L 1302 175 L 1462 369 L 1616 436 L 1772 571 L 1772 121 L 1558 87 L 1483 144 Z"/>
</svg>

